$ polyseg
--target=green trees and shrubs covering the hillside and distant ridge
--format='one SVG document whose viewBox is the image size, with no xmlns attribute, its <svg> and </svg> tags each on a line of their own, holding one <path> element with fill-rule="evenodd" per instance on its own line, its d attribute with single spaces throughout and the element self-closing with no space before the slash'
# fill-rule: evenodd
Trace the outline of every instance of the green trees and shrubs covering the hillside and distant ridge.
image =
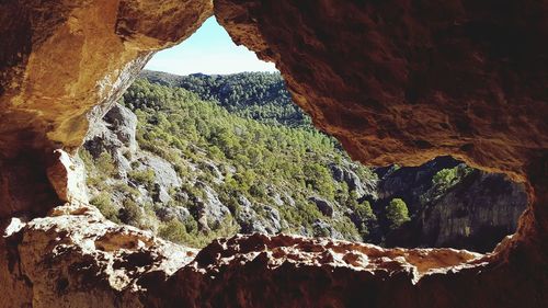
<svg viewBox="0 0 548 308">
<path fill-rule="evenodd" d="M 153 170 L 144 169 L 138 155 L 124 153 L 132 166 L 124 182 L 116 176 L 111 155 L 103 152 L 93 159 L 89 152 L 80 151 L 88 169 L 88 184 L 100 192 L 93 204 L 109 219 L 150 229 L 175 242 L 203 247 L 240 230 L 237 220 L 244 198 L 263 219 L 271 215 L 264 210 L 265 205 L 277 210 L 281 220 L 287 223 L 282 230 L 285 232 L 306 230 L 323 236 L 326 230 L 312 227 L 321 219 L 346 239 L 367 239 L 376 216 L 367 202 L 357 202 L 358 196 L 346 183 L 333 180 L 330 164 L 352 168 L 363 180 L 376 175 L 368 168 L 351 163 L 336 140 L 309 124 L 290 103 L 279 75 L 195 76 L 178 82 L 175 85 L 183 84 L 199 95 L 139 79 L 122 102 L 138 117 L 139 151 L 165 159 L 182 180 L 182 186 L 170 189 L 169 204 L 156 198 L 142 202 L 136 187 L 155 196 L 158 184 Z M 207 199 L 204 187 L 210 187 L 230 210 L 218 224 L 199 219 L 201 204 Z M 349 217 L 326 217 L 309 201 L 310 196 L 353 208 L 358 218 L 354 221 Z M 158 216 L 165 208 L 181 207 L 191 216 L 168 220 Z"/>
</svg>

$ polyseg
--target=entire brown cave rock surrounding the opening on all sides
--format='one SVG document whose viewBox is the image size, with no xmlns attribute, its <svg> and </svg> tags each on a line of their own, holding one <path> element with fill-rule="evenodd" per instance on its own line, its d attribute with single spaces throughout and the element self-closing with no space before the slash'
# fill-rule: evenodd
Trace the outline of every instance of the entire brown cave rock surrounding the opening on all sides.
<svg viewBox="0 0 548 308">
<path fill-rule="evenodd" d="M 536 1 L 4 1 L 2 307 L 545 307 L 548 8 Z M 237 236 L 201 251 L 106 221 L 72 156 L 158 49 L 212 14 L 356 160 L 450 155 L 525 185 L 492 253 Z M 93 106 L 99 106 L 90 110 Z"/>
</svg>

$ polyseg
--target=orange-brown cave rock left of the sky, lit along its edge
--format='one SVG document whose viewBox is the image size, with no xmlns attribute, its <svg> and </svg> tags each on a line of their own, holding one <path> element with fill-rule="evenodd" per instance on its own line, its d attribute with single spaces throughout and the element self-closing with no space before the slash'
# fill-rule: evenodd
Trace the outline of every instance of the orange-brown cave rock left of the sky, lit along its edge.
<svg viewBox="0 0 548 308">
<path fill-rule="evenodd" d="M 152 53 L 212 10 L 208 0 L 2 1 L 0 217 L 59 204 L 45 171 L 54 150 L 73 152 Z"/>
</svg>

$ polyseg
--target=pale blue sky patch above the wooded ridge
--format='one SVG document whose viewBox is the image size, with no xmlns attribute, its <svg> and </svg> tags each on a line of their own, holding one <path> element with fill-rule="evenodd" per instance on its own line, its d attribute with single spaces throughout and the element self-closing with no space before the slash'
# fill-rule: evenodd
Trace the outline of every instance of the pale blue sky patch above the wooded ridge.
<svg viewBox="0 0 548 308">
<path fill-rule="evenodd" d="M 259 60 L 253 52 L 236 46 L 215 16 L 183 43 L 157 53 L 145 69 L 175 75 L 277 71 L 274 64 Z"/>
</svg>

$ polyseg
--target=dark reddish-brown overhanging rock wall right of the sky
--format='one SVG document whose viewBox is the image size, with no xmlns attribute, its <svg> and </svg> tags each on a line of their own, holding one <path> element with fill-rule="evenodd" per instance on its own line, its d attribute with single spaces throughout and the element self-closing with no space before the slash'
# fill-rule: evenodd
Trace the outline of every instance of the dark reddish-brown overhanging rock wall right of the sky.
<svg viewBox="0 0 548 308">
<path fill-rule="evenodd" d="M 215 13 L 353 158 L 450 155 L 524 182 L 517 235 L 546 258 L 546 1 L 216 0 Z"/>
</svg>

